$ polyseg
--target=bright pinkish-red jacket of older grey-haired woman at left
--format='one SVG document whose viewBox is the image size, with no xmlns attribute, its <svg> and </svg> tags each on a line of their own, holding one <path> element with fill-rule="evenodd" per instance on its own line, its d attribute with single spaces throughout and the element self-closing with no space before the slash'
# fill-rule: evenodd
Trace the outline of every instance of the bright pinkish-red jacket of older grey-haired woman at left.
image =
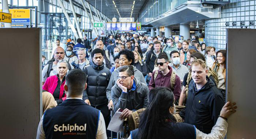
<svg viewBox="0 0 256 139">
<path fill-rule="evenodd" d="M 60 85 L 60 96 L 59 99 L 62 99 L 63 101 L 66 99 L 66 94 L 65 97 L 62 98 L 63 96 L 63 91 L 64 91 L 64 84 L 65 81 Z M 53 75 L 50 76 L 46 79 L 44 86 L 42 87 L 42 90 L 45 90 L 47 92 L 50 92 L 51 94 L 53 94 L 54 90 L 56 89 L 58 85 L 58 76 L 57 75 Z"/>
</svg>

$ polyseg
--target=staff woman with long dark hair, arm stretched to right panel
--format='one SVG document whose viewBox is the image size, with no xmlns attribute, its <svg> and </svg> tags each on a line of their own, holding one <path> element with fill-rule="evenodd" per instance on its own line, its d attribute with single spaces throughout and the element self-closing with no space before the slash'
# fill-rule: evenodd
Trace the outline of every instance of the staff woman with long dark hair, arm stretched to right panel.
<svg viewBox="0 0 256 139">
<path fill-rule="evenodd" d="M 236 112 L 236 103 L 227 102 L 210 134 L 195 126 L 177 123 L 173 116 L 174 95 L 169 88 L 159 87 L 148 93 L 148 106 L 140 116 L 139 128 L 131 131 L 130 139 L 223 139 L 227 132 L 227 118 Z M 128 138 L 128 139 L 129 139 Z"/>
</svg>

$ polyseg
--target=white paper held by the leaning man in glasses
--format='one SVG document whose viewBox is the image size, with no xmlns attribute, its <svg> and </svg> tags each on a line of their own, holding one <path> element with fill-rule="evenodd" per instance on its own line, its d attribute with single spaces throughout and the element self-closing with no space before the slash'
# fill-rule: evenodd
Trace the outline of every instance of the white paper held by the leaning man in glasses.
<svg viewBox="0 0 256 139">
<path fill-rule="evenodd" d="M 114 132 L 122 132 L 124 119 L 121 120 L 120 115 L 123 114 L 123 109 L 119 108 L 111 118 L 107 130 Z"/>
</svg>

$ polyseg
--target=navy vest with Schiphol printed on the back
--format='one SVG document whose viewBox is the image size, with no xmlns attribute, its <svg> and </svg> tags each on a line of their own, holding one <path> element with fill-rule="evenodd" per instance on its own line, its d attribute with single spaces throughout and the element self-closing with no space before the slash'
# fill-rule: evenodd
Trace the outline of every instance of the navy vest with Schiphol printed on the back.
<svg viewBox="0 0 256 139">
<path fill-rule="evenodd" d="M 44 114 L 46 139 L 95 139 L 100 111 L 80 99 L 66 99 Z"/>
</svg>

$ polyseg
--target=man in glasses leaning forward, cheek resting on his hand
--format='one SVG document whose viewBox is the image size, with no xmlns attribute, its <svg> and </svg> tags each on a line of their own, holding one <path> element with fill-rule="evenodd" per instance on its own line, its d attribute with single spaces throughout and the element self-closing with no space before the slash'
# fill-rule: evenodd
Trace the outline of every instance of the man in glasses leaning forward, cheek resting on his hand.
<svg viewBox="0 0 256 139">
<path fill-rule="evenodd" d="M 134 78 L 134 70 L 131 65 L 118 68 L 117 83 L 111 88 L 111 96 L 114 112 L 118 108 L 123 109 L 120 118 L 127 118 L 133 111 L 146 108 L 148 105 L 148 87 L 146 84 Z"/>
</svg>

